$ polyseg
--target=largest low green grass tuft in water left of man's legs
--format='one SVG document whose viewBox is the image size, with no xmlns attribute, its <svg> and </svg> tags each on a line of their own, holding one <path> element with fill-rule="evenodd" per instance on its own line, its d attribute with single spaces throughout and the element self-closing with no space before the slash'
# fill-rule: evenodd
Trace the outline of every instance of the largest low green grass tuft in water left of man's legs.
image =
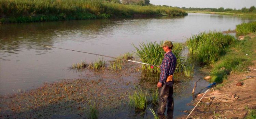
<svg viewBox="0 0 256 119">
<path fill-rule="evenodd" d="M 133 95 L 129 96 L 128 104 L 131 107 L 135 107 L 137 109 L 145 109 L 147 106 L 147 92 L 143 92 L 141 88 L 135 87 L 136 91 L 134 91 Z"/>
</svg>

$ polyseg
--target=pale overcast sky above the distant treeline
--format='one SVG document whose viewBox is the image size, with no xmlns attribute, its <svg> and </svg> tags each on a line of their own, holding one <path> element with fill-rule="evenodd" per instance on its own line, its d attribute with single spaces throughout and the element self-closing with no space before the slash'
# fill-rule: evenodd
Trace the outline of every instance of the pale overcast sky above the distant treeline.
<svg viewBox="0 0 256 119">
<path fill-rule="evenodd" d="M 236 8 L 256 7 L 256 0 L 150 0 L 155 5 L 168 5 L 178 7 L 199 7 L 199 8 Z"/>
</svg>

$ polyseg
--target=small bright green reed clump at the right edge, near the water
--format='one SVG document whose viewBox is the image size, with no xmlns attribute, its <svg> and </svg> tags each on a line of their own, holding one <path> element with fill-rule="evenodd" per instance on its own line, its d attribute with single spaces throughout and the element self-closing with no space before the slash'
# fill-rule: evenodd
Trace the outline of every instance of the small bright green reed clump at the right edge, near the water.
<svg viewBox="0 0 256 119">
<path fill-rule="evenodd" d="M 246 35 L 256 32 L 256 21 L 249 23 L 241 23 L 236 26 L 237 35 Z"/>
</svg>

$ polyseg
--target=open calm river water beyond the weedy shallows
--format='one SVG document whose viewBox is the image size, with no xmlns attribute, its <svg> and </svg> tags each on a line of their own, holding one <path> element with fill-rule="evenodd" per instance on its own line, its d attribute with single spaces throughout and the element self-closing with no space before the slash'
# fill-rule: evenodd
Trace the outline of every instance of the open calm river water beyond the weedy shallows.
<svg viewBox="0 0 256 119">
<path fill-rule="evenodd" d="M 189 13 L 174 18 L 0 24 L 0 95 L 34 89 L 44 82 L 80 78 L 81 73 L 70 71 L 69 67 L 81 60 L 99 59 L 96 55 L 42 45 L 115 57 L 134 51 L 131 44 L 161 40 L 184 43 L 191 34 L 234 30 L 237 24 L 249 21 L 235 16 Z M 186 100 L 189 102 L 191 97 Z"/>
</svg>

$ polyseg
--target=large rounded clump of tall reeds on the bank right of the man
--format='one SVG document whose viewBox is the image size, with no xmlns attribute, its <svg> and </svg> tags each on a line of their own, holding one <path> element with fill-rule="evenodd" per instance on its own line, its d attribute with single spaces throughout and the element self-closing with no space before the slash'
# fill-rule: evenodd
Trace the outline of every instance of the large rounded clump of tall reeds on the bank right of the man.
<svg viewBox="0 0 256 119">
<path fill-rule="evenodd" d="M 212 64 L 233 44 L 236 39 L 221 32 L 202 32 L 187 39 L 189 53 L 196 56 L 201 64 Z"/>
</svg>

